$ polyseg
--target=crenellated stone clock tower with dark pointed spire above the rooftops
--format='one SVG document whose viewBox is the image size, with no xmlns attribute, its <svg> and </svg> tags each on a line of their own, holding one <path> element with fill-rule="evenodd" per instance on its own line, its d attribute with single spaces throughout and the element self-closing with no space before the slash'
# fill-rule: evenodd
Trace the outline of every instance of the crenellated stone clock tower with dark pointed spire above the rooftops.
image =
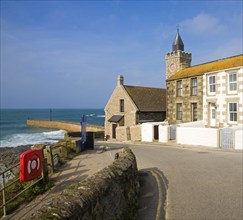
<svg viewBox="0 0 243 220">
<path fill-rule="evenodd" d="M 192 54 L 184 52 L 184 44 L 177 28 L 177 34 L 172 44 L 172 52 L 165 55 L 166 79 L 176 72 L 191 66 Z"/>
</svg>

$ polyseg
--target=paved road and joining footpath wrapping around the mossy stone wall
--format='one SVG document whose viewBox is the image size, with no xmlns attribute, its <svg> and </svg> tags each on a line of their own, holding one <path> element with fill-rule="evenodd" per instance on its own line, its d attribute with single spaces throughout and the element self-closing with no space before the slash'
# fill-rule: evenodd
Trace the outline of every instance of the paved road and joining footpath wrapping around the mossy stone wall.
<svg viewBox="0 0 243 220">
<path fill-rule="evenodd" d="M 99 146 L 108 146 L 101 152 Z M 242 220 L 242 151 L 175 143 L 97 142 L 51 179 L 55 187 L 9 219 L 21 219 L 72 183 L 112 163 L 123 146 L 134 152 L 140 175 L 139 220 Z"/>
</svg>

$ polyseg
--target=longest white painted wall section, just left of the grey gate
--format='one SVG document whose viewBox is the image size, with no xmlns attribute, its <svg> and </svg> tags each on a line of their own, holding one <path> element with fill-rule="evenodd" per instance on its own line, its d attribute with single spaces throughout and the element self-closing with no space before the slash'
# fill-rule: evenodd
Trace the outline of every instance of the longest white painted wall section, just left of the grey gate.
<svg viewBox="0 0 243 220">
<path fill-rule="evenodd" d="M 176 132 L 178 144 L 218 147 L 218 129 L 177 127 Z"/>
</svg>

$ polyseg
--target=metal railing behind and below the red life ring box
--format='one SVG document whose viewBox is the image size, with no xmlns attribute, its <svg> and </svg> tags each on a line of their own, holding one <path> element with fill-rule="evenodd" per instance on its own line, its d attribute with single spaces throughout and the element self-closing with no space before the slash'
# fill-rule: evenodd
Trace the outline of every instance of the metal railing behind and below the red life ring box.
<svg viewBox="0 0 243 220">
<path fill-rule="evenodd" d="M 37 179 L 30 186 L 28 186 L 25 189 L 23 189 L 22 191 L 18 192 L 14 197 L 10 198 L 9 200 L 6 200 L 6 188 L 12 186 L 13 184 L 15 184 L 17 182 L 20 182 L 19 178 L 13 180 L 10 183 L 7 182 L 8 180 L 10 180 L 9 177 L 11 175 L 11 170 L 13 170 L 15 167 L 18 167 L 19 165 L 20 165 L 20 163 L 15 164 L 12 167 L 9 167 L 8 169 L 6 169 L 0 173 L 0 177 L 2 177 L 2 188 L 0 189 L 0 192 L 2 192 L 2 199 L 3 199 L 3 204 L 0 206 L 0 208 L 1 209 L 3 208 L 3 217 L 6 217 L 6 215 L 7 215 L 7 209 L 6 209 L 7 204 L 9 204 L 13 200 L 15 200 L 18 196 L 23 194 L 25 191 L 27 191 L 29 188 L 31 188 L 33 185 L 35 185 L 36 183 L 38 183 L 39 181 L 41 181 L 43 179 L 43 175 L 42 175 L 42 177 Z"/>
</svg>

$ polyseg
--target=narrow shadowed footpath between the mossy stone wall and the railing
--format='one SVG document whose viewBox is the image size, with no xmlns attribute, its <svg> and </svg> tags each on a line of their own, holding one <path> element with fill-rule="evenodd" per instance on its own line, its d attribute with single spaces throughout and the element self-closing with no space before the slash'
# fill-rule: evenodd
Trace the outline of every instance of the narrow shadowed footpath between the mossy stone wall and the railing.
<svg viewBox="0 0 243 220">
<path fill-rule="evenodd" d="M 50 201 L 53 196 L 61 193 L 71 184 L 77 183 L 110 165 L 114 161 L 117 150 L 102 151 L 99 149 L 99 145 L 96 145 L 94 150 L 81 152 L 50 177 L 50 180 L 54 182 L 54 187 L 51 190 L 39 195 L 29 204 L 22 205 L 4 219 L 19 220 L 27 216 L 30 217 L 31 213 L 39 209 L 43 203 Z"/>
</svg>

